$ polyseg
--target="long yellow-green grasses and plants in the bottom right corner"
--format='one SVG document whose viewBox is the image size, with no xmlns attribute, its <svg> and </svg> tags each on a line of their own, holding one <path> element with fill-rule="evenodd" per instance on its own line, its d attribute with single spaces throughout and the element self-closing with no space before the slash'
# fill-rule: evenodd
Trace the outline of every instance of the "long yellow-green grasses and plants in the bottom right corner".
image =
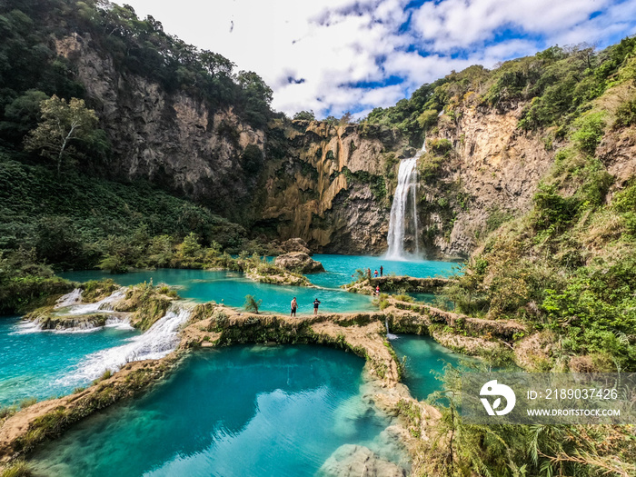
<svg viewBox="0 0 636 477">
<path fill-rule="evenodd" d="M 496 373 L 495 373 L 496 376 Z M 479 425 L 463 422 L 461 372 L 444 370 L 429 399 L 442 412 L 435 438 L 422 444 L 420 475 L 506 477 L 633 475 L 633 426 Z"/>
</svg>

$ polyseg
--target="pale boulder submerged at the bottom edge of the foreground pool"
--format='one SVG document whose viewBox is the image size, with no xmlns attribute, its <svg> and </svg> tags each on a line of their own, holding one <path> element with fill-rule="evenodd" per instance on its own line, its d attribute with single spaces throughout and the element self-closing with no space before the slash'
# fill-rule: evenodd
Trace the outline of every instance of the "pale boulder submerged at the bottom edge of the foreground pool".
<svg viewBox="0 0 636 477">
<path fill-rule="evenodd" d="M 406 477 L 406 470 L 378 457 L 362 445 L 344 444 L 327 459 L 318 474 L 322 477 Z"/>
</svg>

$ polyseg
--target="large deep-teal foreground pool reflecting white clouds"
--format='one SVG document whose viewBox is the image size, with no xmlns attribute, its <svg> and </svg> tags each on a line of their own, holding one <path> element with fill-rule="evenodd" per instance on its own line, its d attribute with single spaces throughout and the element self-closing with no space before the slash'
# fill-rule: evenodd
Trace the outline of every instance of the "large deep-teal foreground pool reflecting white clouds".
<svg viewBox="0 0 636 477">
<path fill-rule="evenodd" d="M 34 455 L 47 476 L 313 476 L 340 445 L 403 455 L 361 399 L 363 360 L 317 346 L 193 353 L 143 398 Z"/>
</svg>

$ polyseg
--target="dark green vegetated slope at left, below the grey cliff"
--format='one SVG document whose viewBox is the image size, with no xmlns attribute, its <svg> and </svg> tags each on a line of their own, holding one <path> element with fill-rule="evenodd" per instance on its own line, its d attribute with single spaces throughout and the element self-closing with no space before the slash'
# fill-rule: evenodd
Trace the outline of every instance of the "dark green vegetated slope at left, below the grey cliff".
<svg viewBox="0 0 636 477">
<path fill-rule="evenodd" d="M 119 184 L 0 157 L 0 249 L 35 249 L 38 260 L 60 267 L 94 266 L 104 254 L 160 253 L 161 235 L 172 243 L 186 234 L 236 251 L 242 227 L 202 206 L 149 184 Z M 141 254 L 141 253 L 137 253 Z"/>
</svg>

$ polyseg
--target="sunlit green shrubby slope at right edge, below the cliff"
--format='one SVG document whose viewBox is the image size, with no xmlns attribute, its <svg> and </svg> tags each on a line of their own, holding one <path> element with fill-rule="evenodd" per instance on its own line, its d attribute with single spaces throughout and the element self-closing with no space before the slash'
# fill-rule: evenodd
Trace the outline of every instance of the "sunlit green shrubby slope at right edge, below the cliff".
<svg viewBox="0 0 636 477">
<path fill-rule="evenodd" d="M 551 330 L 557 369 L 575 371 L 582 355 L 586 371 L 636 370 L 636 184 L 608 204 L 614 178 L 593 155 L 603 117 L 581 115 L 530 213 L 491 234 L 445 290 L 463 313 Z"/>
</svg>

